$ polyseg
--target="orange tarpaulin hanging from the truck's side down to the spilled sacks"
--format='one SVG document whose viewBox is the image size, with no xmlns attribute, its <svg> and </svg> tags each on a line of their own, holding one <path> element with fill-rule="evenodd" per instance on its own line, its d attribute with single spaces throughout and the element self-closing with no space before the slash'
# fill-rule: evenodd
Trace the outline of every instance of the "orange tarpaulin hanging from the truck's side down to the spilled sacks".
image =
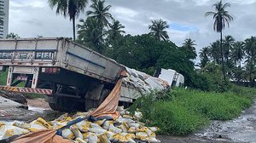
<svg viewBox="0 0 256 143">
<path fill-rule="evenodd" d="M 125 77 L 126 72 L 123 71 L 121 76 Z M 92 112 L 90 115 L 93 117 L 113 117 L 115 120 L 119 117 L 119 112 L 116 111 L 119 106 L 119 98 L 120 98 L 120 89 L 122 86 L 122 78 L 115 84 L 113 90 L 108 97 L 102 102 L 102 104 L 96 109 L 96 111 Z"/>
</svg>

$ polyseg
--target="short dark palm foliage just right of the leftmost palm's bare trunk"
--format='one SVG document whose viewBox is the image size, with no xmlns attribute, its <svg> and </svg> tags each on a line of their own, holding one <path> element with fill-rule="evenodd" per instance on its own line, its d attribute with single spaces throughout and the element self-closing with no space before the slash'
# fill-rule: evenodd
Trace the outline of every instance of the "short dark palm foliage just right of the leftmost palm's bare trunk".
<svg viewBox="0 0 256 143">
<path fill-rule="evenodd" d="M 97 20 L 94 18 L 87 18 L 87 20 L 79 20 L 78 38 L 79 43 L 89 46 L 90 48 L 102 53 L 102 44 L 104 43 L 103 35 L 106 31 L 102 31 L 97 25 Z"/>
</svg>

